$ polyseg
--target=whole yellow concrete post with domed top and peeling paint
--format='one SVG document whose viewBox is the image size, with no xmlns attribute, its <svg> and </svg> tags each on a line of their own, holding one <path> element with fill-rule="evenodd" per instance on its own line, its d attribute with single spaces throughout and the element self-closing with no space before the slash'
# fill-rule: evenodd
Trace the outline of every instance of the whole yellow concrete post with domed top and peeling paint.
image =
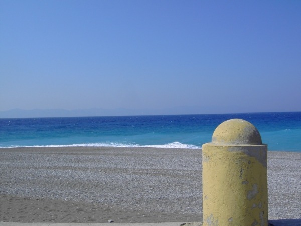
<svg viewBox="0 0 301 226">
<path fill-rule="evenodd" d="M 203 225 L 268 226 L 267 145 L 241 119 L 227 120 L 203 151 Z"/>
</svg>

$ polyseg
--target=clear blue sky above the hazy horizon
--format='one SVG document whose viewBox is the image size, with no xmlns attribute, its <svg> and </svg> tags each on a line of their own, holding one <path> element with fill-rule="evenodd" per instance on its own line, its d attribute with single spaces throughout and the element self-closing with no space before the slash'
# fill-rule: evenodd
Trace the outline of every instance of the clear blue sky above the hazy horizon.
<svg viewBox="0 0 301 226">
<path fill-rule="evenodd" d="M 301 1 L 0 0 L 0 111 L 301 111 Z"/>
</svg>

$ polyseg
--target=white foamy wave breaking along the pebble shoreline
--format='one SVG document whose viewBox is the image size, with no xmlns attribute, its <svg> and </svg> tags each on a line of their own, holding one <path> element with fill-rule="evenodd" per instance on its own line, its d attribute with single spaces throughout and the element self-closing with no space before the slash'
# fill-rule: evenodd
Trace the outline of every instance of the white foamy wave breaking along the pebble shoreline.
<svg viewBox="0 0 301 226">
<path fill-rule="evenodd" d="M 32 145 L 32 146 L 18 146 L 12 145 L 9 147 L 0 148 L 26 148 L 26 147 L 132 147 L 132 148 L 187 148 L 197 149 L 201 148 L 196 145 L 182 144 L 180 142 L 172 142 L 163 145 L 139 145 L 139 144 L 122 144 L 122 143 L 83 143 L 83 144 L 71 144 L 71 145 Z"/>
</svg>

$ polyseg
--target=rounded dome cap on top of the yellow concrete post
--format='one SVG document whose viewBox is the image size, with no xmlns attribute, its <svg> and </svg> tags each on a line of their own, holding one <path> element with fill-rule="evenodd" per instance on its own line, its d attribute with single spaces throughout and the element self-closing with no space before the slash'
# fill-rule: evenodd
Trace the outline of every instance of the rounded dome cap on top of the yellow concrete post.
<svg viewBox="0 0 301 226">
<path fill-rule="evenodd" d="M 242 119 L 221 123 L 213 132 L 212 143 L 233 145 L 261 145 L 261 136 L 253 124 Z"/>
</svg>

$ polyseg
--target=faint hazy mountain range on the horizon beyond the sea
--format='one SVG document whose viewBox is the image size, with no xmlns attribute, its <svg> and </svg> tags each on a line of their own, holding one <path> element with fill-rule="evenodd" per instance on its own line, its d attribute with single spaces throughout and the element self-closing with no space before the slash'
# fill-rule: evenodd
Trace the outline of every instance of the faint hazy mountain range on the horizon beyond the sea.
<svg viewBox="0 0 301 226">
<path fill-rule="evenodd" d="M 207 111 L 207 110 L 206 110 Z M 31 118 L 31 117 L 80 117 L 80 116 L 131 116 L 131 115 L 175 115 L 175 114 L 204 114 L 199 107 L 174 107 L 167 109 L 12 109 L 0 111 L 0 118 Z"/>
</svg>

